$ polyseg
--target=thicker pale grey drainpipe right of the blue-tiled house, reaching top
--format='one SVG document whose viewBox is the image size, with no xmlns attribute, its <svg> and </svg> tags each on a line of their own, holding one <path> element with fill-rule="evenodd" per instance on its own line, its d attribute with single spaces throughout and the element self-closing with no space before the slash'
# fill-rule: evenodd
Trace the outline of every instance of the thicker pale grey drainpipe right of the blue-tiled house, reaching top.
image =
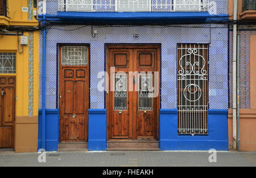
<svg viewBox="0 0 256 178">
<path fill-rule="evenodd" d="M 234 0 L 233 20 L 237 20 L 237 0 Z M 237 24 L 233 25 L 233 149 L 237 149 Z"/>
</svg>

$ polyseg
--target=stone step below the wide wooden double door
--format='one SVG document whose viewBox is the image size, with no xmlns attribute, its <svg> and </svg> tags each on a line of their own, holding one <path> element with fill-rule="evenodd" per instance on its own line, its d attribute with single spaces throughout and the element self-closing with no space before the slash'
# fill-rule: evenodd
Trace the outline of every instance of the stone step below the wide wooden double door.
<svg viewBox="0 0 256 178">
<path fill-rule="evenodd" d="M 108 149 L 159 150 L 158 141 L 108 141 Z"/>
</svg>

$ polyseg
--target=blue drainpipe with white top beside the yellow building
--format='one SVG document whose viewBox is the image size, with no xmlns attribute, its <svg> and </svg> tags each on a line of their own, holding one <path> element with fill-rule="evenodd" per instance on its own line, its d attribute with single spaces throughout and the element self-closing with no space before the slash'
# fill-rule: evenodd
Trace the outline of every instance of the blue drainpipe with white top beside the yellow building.
<svg viewBox="0 0 256 178">
<path fill-rule="evenodd" d="M 43 24 L 44 23 L 46 23 L 46 0 L 43 0 Z M 46 28 L 43 29 L 42 68 L 42 149 L 46 150 Z"/>
</svg>

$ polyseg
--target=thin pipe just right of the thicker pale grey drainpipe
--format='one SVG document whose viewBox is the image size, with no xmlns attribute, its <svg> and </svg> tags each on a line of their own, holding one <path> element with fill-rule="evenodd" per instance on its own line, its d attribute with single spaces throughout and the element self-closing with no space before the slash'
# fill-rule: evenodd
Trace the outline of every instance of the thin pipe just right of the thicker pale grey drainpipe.
<svg viewBox="0 0 256 178">
<path fill-rule="evenodd" d="M 239 26 L 238 26 L 239 32 Z M 240 150 L 240 35 L 237 35 L 237 151 Z"/>
</svg>

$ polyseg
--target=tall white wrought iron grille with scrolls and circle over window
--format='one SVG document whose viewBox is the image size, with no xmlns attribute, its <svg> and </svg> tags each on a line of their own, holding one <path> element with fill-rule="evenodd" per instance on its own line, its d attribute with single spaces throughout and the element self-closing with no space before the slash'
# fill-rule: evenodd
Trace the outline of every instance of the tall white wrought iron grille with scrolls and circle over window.
<svg viewBox="0 0 256 178">
<path fill-rule="evenodd" d="M 177 108 L 179 134 L 208 134 L 208 45 L 177 48 Z"/>
</svg>

